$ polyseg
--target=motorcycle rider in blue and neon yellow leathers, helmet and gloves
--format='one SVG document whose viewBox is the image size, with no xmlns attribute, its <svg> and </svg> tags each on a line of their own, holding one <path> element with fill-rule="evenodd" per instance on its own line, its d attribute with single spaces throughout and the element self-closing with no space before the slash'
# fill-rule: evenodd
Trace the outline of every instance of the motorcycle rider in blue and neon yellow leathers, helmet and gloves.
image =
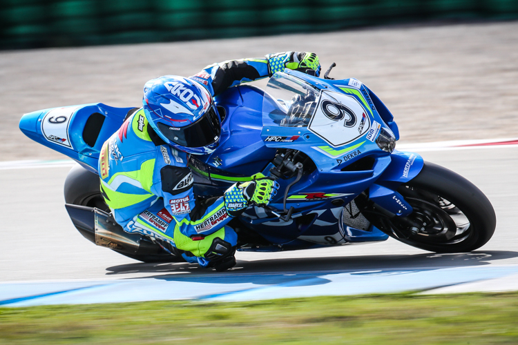
<svg viewBox="0 0 518 345">
<path fill-rule="evenodd" d="M 269 204 L 278 184 L 259 174 L 204 199 L 193 193 L 189 155 L 207 155 L 218 146 L 221 120 L 213 97 L 285 68 L 320 75 L 314 53 L 280 52 L 215 63 L 189 78 L 148 81 L 143 108 L 128 112 L 99 156 L 101 193 L 115 221 L 188 262 L 233 267 L 237 235 L 227 224 L 248 206 Z"/>
</svg>

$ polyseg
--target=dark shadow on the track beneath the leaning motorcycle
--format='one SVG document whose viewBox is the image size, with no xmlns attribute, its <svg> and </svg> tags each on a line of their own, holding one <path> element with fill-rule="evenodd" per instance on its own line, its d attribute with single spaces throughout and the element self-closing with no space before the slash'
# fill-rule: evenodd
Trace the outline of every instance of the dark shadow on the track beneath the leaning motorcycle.
<svg viewBox="0 0 518 345">
<path fill-rule="evenodd" d="M 459 254 L 426 253 L 419 255 L 365 255 L 354 257 L 310 257 L 289 259 L 265 259 L 243 261 L 238 259 L 236 267 L 224 273 L 199 268 L 197 264 L 125 264 L 106 268 L 106 275 L 124 277 L 126 274 L 150 273 L 145 278 L 167 279 L 192 275 L 243 275 L 249 273 L 319 273 L 354 270 L 430 270 L 436 268 L 458 268 L 497 264 L 498 260 L 518 257 L 512 251 L 477 251 Z"/>
</svg>

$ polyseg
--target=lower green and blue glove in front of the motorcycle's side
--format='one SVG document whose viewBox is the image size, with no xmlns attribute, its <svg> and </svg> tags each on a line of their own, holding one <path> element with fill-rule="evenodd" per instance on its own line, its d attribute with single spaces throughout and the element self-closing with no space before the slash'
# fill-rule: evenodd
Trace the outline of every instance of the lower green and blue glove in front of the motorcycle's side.
<svg viewBox="0 0 518 345">
<path fill-rule="evenodd" d="M 236 217 L 248 206 L 267 206 L 278 188 L 278 182 L 269 178 L 234 184 L 224 194 L 227 213 Z"/>
</svg>

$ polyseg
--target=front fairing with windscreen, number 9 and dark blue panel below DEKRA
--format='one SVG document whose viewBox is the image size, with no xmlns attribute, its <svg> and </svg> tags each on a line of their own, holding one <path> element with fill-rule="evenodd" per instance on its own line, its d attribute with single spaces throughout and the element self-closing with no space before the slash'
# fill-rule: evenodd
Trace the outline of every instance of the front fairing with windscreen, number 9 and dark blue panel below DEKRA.
<svg viewBox="0 0 518 345">
<path fill-rule="evenodd" d="M 311 113 L 294 116 L 299 98 L 314 102 L 305 106 Z M 291 188 L 288 202 L 332 190 L 345 194 L 340 198 L 347 203 L 390 165 L 390 152 L 376 144 L 381 128 L 390 128 L 367 88 L 356 79 L 327 80 L 291 70 L 278 72 L 265 92 L 262 122 L 265 146 L 300 150 L 316 165 L 314 172 Z"/>
</svg>

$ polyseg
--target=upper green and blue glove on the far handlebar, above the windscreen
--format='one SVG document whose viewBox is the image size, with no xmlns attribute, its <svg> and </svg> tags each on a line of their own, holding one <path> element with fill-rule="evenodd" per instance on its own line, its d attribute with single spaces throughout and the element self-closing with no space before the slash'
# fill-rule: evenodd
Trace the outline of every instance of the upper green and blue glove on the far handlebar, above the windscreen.
<svg viewBox="0 0 518 345">
<path fill-rule="evenodd" d="M 270 77 L 285 68 L 298 70 L 308 75 L 320 76 L 320 61 L 314 52 L 278 52 L 266 56 Z"/>
</svg>

